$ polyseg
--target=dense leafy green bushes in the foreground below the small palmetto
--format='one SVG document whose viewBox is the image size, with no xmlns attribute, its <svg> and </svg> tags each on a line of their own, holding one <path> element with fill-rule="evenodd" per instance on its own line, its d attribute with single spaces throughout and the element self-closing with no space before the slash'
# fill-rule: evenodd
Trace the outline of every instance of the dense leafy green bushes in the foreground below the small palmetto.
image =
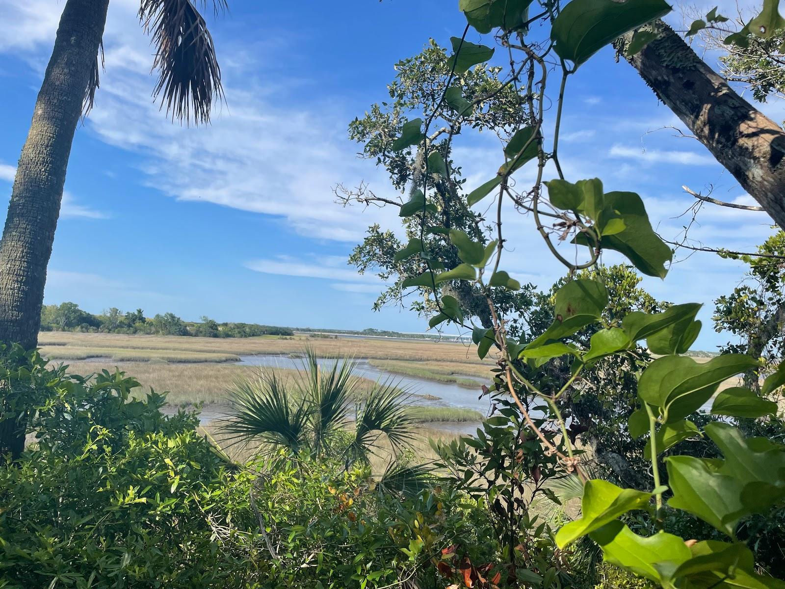
<svg viewBox="0 0 785 589">
<path fill-rule="evenodd" d="M 130 397 L 138 383 L 122 372 L 13 358 L 24 365 L 0 357 L 2 385 L 35 397 L 37 434 L 0 467 L 4 589 L 517 586 L 484 500 L 416 466 L 374 477 L 365 462 L 283 448 L 236 466 L 195 414 Z"/>
</svg>

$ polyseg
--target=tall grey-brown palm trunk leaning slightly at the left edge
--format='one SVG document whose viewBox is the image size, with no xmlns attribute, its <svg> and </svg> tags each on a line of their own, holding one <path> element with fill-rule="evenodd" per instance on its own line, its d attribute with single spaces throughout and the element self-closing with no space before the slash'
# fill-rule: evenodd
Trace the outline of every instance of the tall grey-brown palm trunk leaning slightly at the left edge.
<svg viewBox="0 0 785 589">
<path fill-rule="evenodd" d="M 68 0 L 60 17 L 52 57 L 35 101 L 5 229 L 0 241 L 0 342 L 38 344 L 46 266 L 52 254 L 65 171 L 82 102 L 104 34 L 109 0 Z M 26 414 L 2 419 L 0 453 L 24 447 Z M 5 415 L 8 418 L 8 415 Z"/>
</svg>

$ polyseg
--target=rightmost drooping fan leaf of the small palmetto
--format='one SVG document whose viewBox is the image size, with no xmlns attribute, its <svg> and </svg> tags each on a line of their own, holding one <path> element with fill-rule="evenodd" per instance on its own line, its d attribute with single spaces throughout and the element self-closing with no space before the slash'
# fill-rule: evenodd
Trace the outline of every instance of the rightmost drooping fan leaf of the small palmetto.
<svg viewBox="0 0 785 589">
<path fill-rule="evenodd" d="M 395 455 L 414 438 L 414 422 L 407 411 L 410 394 L 397 384 L 392 380 L 376 382 L 357 408 L 354 440 L 348 448 L 349 459 L 367 461 L 372 447 L 382 436 L 389 441 Z"/>
</svg>

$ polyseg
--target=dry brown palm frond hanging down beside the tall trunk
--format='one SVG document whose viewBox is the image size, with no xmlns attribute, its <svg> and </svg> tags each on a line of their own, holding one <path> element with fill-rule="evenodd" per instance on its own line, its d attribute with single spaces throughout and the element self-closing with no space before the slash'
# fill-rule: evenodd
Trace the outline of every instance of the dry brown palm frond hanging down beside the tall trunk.
<svg viewBox="0 0 785 589">
<path fill-rule="evenodd" d="M 206 2 L 202 2 L 206 5 Z M 214 0 L 214 10 L 226 0 Z M 221 68 L 202 15 L 191 0 L 141 0 L 139 20 L 156 46 L 152 68 L 159 71 L 153 97 L 173 119 L 209 123 L 214 99 L 223 100 Z"/>
</svg>

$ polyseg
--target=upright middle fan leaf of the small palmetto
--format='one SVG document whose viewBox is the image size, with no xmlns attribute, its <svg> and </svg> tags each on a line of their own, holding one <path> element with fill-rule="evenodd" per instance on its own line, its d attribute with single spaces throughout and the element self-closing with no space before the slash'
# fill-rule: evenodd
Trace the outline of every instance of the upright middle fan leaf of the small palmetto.
<svg viewBox="0 0 785 589">
<path fill-rule="evenodd" d="M 334 358 L 330 368 L 321 368 L 316 352 L 305 349 L 297 386 L 301 398 L 309 401 L 312 450 L 316 455 L 323 455 L 330 434 L 345 426 L 356 389 L 357 380 L 352 379 L 355 367 L 356 362 L 349 358 Z"/>
</svg>

